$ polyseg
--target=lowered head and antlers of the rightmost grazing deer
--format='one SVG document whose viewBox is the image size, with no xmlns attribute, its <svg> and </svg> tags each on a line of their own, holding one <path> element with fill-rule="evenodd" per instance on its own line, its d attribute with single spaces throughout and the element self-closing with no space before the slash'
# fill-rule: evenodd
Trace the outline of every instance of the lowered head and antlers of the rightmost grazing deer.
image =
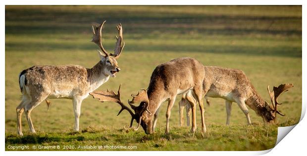
<svg viewBox="0 0 307 156">
<path fill-rule="evenodd" d="M 284 114 L 281 114 L 278 110 L 277 110 L 277 106 L 281 105 L 282 103 L 278 103 L 277 102 L 277 98 L 279 97 L 280 94 L 288 91 L 288 89 L 292 88 L 293 84 L 280 84 L 278 87 L 273 87 L 273 90 L 270 91 L 269 89 L 269 85 L 267 85 L 267 91 L 269 93 L 270 99 L 271 99 L 271 103 L 272 106 L 270 106 L 266 101 L 265 101 L 265 108 L 267 111 L 265 111 L 266 113 L 263 115 L 264 119 L 267 122 L 271 122 L 271 121 L 276 121 L 276 114 L 279 114 L 281 116 L 285 116 Z"/>
</svg>

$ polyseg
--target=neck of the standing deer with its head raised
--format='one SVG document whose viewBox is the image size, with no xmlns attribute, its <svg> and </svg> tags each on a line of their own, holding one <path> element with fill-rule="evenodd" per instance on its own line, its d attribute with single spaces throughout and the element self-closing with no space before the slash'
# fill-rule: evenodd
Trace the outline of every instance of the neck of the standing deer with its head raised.
<svg viewBox="0 0 307 156">
<path fill-rule="evenodd" d="M 102 61 L 99 61 L 93 68 L 88 69 L 90 91 L 94 91 L 110 78 L 110 76 L 104 74 L 104 68 Z"/>
</svg>

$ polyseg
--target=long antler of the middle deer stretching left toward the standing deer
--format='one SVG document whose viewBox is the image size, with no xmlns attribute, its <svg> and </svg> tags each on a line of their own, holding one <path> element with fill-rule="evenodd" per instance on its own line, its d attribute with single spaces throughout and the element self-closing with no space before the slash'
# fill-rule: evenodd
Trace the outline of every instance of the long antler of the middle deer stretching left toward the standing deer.
<svg viewBox="0 0 307 156">
<path fill-rule="evenodd" d="M 111 101 L 111 102 L 116 102 L 121 106 L 120 111 L 118 112 L 117 116 L 123 111 L 127 110 L 130 115 L 131 115 L 131 121 L 130 121 L 130 128 L 132 127 L 133 120 L 136 119 L 135 114 L 132 112 L 130 108 L 128 108 L 125 104 L 123 104 L 120 101 L 120 86 L 118 88 L 117 94 L 114 93 L 114 91 L 95 91 L 90 93 L 94 98 L 99 99 L 100 102 L 106 102 L 106 101 Z M 126 128 L 125 128 L 126 129 Z M 138 128 L 137 128 L 138 129 Z"/>
</svg>

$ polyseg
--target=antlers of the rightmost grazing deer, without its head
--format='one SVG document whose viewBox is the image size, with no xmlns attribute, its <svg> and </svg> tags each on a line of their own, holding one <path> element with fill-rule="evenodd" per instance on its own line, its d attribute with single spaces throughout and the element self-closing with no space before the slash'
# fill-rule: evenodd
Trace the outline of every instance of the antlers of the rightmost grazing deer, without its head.
<svg viewBox="0 0 307 156">
<path fill-rule="evenodd" d="M 277 106 L 278 105 L 281 105 L 282 103 L 278 103 L 277 102 L 277 98 L 280 94 L 288 91 L 288 89 L 292 88 L 293 87 L 293 84 L 289 84 L 289 83 L 286 83 L 286 84 L 280 84 L 278 87 L 273 87 L 273 91 L 270 91 L 269 89 L 269 85 L 267 86 L 267 91 L 270 95 L 270 98 L 271 98 L 271 103 L 272 103 L 272 106 L 273 106 L 273 109 L 274 109 L 274 112 L 275 114 L 279 114 L 281 116 L 285 116 L 283 114 L 281 114 L 278 110 L 277 110 Z"/>
</svg>

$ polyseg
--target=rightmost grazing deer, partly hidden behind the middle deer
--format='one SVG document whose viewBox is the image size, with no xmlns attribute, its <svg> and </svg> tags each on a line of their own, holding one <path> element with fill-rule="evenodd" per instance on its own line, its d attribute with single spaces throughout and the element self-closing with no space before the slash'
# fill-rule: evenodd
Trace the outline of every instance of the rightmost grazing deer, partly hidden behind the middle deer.
<svg viewBox="0 0 307 156">
<path fill-rule="evenodd" d="M 268 102 L 264 101 L 256 92 L 255 87 L 243 71 L 212 66 L 204 66 L 204 68 L 205 79 L 203 82 L 203 96 L 207 104 L 209 104 L 208 97 L 225 99 L 227 114 L 226 125 L 230 123 L 231 106 L 233 102 L 237 103 L 243 111 L 248 124 L 251 124 L 251 119 L 246 105 L 252 108 L 265 122 L 275 121 L 276 114 L 285 116 L 277 110 L 277 106 L 281 105 L 277 102 L 277 98 L 281 93 L 293 87 L 293 84 L 286 83 L 280 84 L 278 87 L 274 86 L 273 91 L 270 91 L 269 85 L 267 85 L 267 90 L 271 99 L 271 105 L 269 105 Z M 195 103 L 196 100 L 194 99 L 193 102 Z M 190 126 L 191 106 L 185 95 L 182 96 L 179 107 L 180 124 L 183 124 L 183 110 L 184 107 L 186 107 L 187 125 Z"/>
</svg>

